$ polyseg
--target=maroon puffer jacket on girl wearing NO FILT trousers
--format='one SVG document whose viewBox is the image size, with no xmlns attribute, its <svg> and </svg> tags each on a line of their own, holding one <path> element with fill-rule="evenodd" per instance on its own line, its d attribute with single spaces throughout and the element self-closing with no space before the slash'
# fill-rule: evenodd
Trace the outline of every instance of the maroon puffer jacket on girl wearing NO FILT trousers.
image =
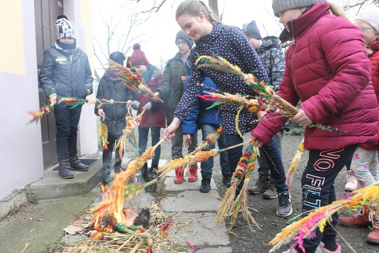
<svg viewBox="0 0 379 253">
<path fill-rule="evenodd" d="M 294 39 L 286 52 L 279 95 L 301 108 L 314 123 L 345 130 L 337 133 L 306 127 L 306 149 L 335 150 L 357 143 L 376 144 L 378 102 L 370 81 L 371 63 L 362 32 L 316 3 L 288 22 Z M 263 121 L 252 134 L 268 143 L 286 119 Z"/>
</svg>

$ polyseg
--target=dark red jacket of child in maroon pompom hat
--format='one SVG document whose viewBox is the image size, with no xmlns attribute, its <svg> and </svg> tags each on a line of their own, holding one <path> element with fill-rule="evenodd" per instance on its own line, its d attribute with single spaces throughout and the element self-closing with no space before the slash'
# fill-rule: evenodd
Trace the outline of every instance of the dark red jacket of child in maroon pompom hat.
<svg viewBox="0 0 379 253">
<path fill-rule="evenodd" d="M 146 83 L 146 85 L 154 91 L 159 86 L 161 86 L 162 83 L 162 71 L 152 65 L 155 68 L 155 73 L 152 77 L 152 79 Z M 160 103 L 160 102 L 153 102 L 150 100 L 150 97 L 148 96 L 142 96 L 138 95 L 138 100 L 140 102 L 140 108 L 138 110 L 138 114 L 142 112 L 142 107 L 144 107 L 148 102 L 152 103 L 151 110 L 146 110 L 144 115 L 142 116 L 142 120 L 140 123 L 140 126 L 145 127 L 166 127 L 166 102 Z"/>
</svg>

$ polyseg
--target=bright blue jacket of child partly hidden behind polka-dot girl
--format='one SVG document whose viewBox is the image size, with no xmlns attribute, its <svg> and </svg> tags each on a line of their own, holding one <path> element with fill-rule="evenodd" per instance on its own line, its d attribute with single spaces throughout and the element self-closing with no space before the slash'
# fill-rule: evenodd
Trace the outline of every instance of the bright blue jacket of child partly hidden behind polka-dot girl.
<svg viewBox="0 0 379 253">
<path fill-rule="evenodd" d="M 187 88 L 189 77 L 184 84 L 184 91 Z M 203 86 L 201 87 L 200 95 L 205 95 L 207 92 L 215 92 L 217 89 L 216 84 L 206 76 L 203 81 Z M 216 106 L 212 109 L 208 109 L 214 102 L 205 101 L 202 98 L 197 98 L 192 111 L 183 121 L 182 133 L 183 134 L 195 134 L 197 131 L 197 125 L 208 124 L 218 126 L 221 124 L 221 113 L 219 112 L 219 106 Z"/>
</svg>

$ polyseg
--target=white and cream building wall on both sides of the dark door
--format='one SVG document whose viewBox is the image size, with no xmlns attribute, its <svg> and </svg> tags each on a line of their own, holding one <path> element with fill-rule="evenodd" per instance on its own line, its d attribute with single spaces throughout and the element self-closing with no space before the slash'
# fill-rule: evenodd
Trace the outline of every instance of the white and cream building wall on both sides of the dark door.
<svg viewBox="0 0 379 253">
<path fill-rule="evenodd" d="M 67 9 L 66 9 L 67 7 Z M 93 67 L 91 0 L 65 0 L 64 13 L 74 17 L 79 46 Z M 29 184 L 44 177 L 41 127 L 27 124 L 27 111 L 40 108 L 33 0 L 1 0 L 0 30 L 0 216 L 26 201 Z M 72 19 L 72 18 L 71 18 Z M 6 38 L 6 39 L 5 39 Z M 94 96 L 94 95 L 92 95 Z M 79 123 L 81 155 L 97 151 L 94 105 L 84 105 Z"/>
</svg>

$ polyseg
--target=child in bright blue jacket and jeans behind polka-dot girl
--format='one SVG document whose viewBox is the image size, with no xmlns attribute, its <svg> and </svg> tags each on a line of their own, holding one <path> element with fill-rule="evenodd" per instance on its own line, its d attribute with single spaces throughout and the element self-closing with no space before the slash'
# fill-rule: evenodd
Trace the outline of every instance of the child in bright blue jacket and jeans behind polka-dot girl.
<svg viewBox="0 0 379 253">
<path fill-rule="evenodd" d="M 188 75 L 190 75 L 190 68 L 188 64 L 187 66 L 187 72 Z M 184 90 L 187 88 L 187 84 L 189 81 L 189 76 L 187 77 L 186 83 L 184 85 Z M 215 92 L 217 90 L 217 87 L 215 83 L 206 76 L 204 78 L 204 82 L 201 87 L 201 95 L 204 95 L 206 93 L 204 92 Z M 191 143 L 191 135 L 193 135 L 197 130 L 198 127 L 201 129 L 203 140 L 213 131 L 216 131 L 217 127 L 221 124 L 221 117 L 218 113 L 219 106 L 213 107 L 211 109 L 208 109 L 213 104 L 212 101 L 205 101 L 204 99 L 198 98 L 198 101 L 195 102 L 195 106 L 193 107 L 191 113 L 187 116 L 187 118 L 183 122 L 183 134 L 185 135 L 183 146 L 187 147 Z M 225 134 L 222 132 L 217 140 L 218 148 L 223 149 L 226 148 L 226 139 Z M 209 144 L 209 149 L 215 148 L 215 143 Z M 222 174 L 222 180 L 221 182 L 229 188 L 231 186 L 231 175 L 230 175 L 230 169 L 229 169 L 229 162 L 228 162 L 228 154 L 227 151 L 221 152 L 219 154 L 220 158 L 220 167 L 221 167 L 221 174 Z M 201 163 L 201 185 L 200 185 L 200 192 L 207 193 L 211 190 L 211 179 L 212 179 L 212 172 L 213 172 L 213 157 L 208 158 L 208 160 Z"/>
</svg>

